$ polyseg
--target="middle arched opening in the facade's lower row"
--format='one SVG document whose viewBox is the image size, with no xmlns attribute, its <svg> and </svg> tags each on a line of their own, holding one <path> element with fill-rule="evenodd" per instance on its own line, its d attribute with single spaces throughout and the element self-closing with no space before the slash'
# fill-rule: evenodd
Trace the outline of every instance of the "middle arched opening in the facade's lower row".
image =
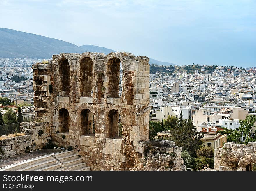
<svg viewBox="0 0 256 191">
<path fill-rule="evenodd" d="M 81 135 L 95 134 L 93 113 L 89 109 L 81 112 Z"/>
</svg>

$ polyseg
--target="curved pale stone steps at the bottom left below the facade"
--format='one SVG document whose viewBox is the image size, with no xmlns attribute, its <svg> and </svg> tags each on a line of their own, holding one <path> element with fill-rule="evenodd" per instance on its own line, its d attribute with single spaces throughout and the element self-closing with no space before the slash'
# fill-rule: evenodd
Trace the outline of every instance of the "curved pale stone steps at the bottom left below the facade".
<svg viewBox="0 0 256 191">
<path fill-rule="evenodd" d="M 78 154 L 74 151 L 63 151 L 53 153 L 51 155 L 40 156 L 29 160 L 24 160 L 19 163 L 8 165 L 0 169 L 3 170 L 77 170 L 86 171 L 91 167 L 87 167 L 86 163 L 82 162 Z"/>
</svg>

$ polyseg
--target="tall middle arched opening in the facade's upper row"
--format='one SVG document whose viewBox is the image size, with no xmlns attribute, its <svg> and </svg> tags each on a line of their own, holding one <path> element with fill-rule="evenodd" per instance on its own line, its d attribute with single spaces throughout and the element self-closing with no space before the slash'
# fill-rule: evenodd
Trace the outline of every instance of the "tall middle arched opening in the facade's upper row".
<svg viewBox="0 0 256 191">
<path fill-rule="evenodd" d="M 81 93 L 83 97 L 91 97 L 93 89 L 93 60 L 85 57 L 80 61 Z"/>
</svg>

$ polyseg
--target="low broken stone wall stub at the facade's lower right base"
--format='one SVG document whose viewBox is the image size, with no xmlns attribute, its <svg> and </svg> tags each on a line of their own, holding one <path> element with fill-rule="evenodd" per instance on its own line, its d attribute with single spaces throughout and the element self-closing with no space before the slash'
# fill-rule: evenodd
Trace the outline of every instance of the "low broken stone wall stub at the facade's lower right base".
<svg viewBox="0 0 256 191">
<path fill-rule="evenodd" d="M 150 140 L 141 144 L 142 157 L 131 170 L 186 170 L 181 158 L 181 147 L 167 140 Z"/>
</svg>

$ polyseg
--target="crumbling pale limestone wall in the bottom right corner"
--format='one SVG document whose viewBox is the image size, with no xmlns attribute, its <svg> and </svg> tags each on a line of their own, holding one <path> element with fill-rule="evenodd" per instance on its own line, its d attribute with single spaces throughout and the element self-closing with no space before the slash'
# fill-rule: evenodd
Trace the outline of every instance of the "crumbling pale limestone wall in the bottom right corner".
<svg viewBox="0 0 256 191">
<path fill-rule="evenodd" d="M 248 165 L 256 163 L 256 142 L 249 142 L 248 145 L 228 142 L 214 152 L 215 169 L 248 170 Z"/>
</svg>

